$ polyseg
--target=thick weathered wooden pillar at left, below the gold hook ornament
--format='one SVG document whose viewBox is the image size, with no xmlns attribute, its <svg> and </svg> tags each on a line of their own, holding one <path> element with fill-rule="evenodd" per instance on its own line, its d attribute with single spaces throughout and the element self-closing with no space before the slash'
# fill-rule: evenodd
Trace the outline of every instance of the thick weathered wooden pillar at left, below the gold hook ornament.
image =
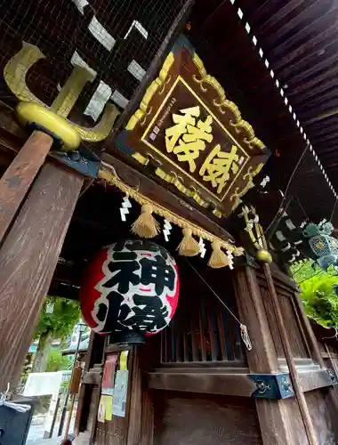
<svg viewBox="0 0 338 445">
<path fill-rule="evenodd" d="M 45 164 L 1 247 L 0 392 L 19 379 L 82 184 Z"/>
</svg>

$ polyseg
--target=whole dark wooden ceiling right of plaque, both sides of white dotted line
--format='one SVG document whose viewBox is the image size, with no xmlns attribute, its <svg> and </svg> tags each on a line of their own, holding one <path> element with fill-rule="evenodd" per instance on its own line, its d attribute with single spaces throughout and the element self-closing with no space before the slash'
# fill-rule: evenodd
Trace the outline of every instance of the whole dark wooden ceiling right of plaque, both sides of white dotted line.
<svg viewBox="0 0 338 445">
<path fill-rule="evenodd" d="M 195 5 L 190 38 L 208 72 L 272 151 L 265 172 L 274 190 L 286 190 L 307 147 L 299 119 L 338 192 L 337 23 L 337 0 L 197 0 Z M 310 150 L 289 186 L 308 216 L 333 214 L 338 223 L 334 193 Z"/>
</svg>

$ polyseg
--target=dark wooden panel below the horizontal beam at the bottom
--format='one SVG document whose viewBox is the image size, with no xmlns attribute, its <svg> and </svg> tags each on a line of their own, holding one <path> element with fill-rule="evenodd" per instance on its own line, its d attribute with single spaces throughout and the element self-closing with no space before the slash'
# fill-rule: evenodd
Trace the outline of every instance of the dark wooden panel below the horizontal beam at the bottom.
<svg viewBox="0 0 338 445">
<path fill-rule="evenodd" d="M 157 391 L 154 445 L 262 444 L 254 401 Z"/>
</svg>

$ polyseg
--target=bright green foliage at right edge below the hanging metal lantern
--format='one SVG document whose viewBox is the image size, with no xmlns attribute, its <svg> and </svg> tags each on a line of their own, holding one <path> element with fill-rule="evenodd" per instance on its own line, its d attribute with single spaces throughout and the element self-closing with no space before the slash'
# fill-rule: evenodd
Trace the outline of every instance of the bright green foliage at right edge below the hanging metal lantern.
<svg viewBox="0 0 338 445">
<path fill-rule="evenodd" d="M 313 270 L 312 262 L 293 266 L 294 279 L 302 289 L 301 297 L 305 312 L 323 326 L 338 327 L 338 276 L 333 268 L 329 271 Z"/>
</svg>

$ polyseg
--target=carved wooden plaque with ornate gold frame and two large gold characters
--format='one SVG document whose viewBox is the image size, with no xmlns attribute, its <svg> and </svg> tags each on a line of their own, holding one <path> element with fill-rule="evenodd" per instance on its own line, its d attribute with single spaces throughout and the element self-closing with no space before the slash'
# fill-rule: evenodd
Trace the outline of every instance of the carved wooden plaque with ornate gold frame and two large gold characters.
<svg viewBox="0 0 338 445">
<path fill-rule="evenodd" d="M 270 155 L 183 38 L 117 146 L 143 165 L 155 159 L 163 181 L 218 216 L 238 206 Z"/>
</svg>

